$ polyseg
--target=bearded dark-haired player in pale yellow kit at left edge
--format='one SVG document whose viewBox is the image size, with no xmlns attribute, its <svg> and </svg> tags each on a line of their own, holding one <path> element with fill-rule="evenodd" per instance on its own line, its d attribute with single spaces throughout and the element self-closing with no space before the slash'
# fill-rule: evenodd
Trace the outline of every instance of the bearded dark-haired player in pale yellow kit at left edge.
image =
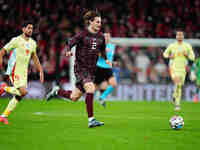
<svg viewBox="0 0 200 150">
<path fill-rule="evenodd" d="M 4 92 L 13 95 L 7 108 L 0 116 L 0 122 L 8 124 L 8 115 L 15 109 L 16 104 L 28 93 L 27 91 L 27 75 L 30 58 L 33 59 L 37 70 L 40 72 L 40 82 L 43 83 L 44 75 L 40 61 L 36 54 L 37 44 L 31 38 L 33 33 L 33 23 L 26 21 L 22 25 L 22 35 L 14 37 L 0 51 L 0 66 L 3 63 L 3 56 L 9 53 L 8 67 L 6 74 L 9 76 L 13 86 L 7 86 L 2 82 L 0 86 L 0 95 Z"/>
</svg>

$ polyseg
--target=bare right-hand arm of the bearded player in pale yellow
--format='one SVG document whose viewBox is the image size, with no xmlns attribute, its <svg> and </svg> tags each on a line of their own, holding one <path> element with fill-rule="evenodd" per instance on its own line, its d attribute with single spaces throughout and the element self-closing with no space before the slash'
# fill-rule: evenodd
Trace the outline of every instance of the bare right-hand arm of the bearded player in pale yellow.
<svg viewBox="0 0 200 150">
<path fill-rule="evenodd" d="M 38 70 L 38 72 L 40 72 L 40 82 L 43 83 L 44 82 L 44 72 L 43 72 L 42 65 L 40 64 L 40 61 L 39 61 L 39 58 L 38 58 L 36 52 L 32 53 L 32 60 L 34 62 L 36 69 Z"/>
</svg>

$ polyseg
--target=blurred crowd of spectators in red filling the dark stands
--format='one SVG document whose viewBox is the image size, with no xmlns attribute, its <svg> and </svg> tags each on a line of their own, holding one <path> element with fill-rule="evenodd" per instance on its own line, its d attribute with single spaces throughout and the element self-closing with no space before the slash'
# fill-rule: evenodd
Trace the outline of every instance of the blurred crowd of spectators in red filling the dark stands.
<svg viewBox="0 0 200 150">
<path fill-rule="evenodd" d="M 200 37 L 199 0 L 0 0 L 0 47 L 20 34 L 26 19 L 35 22 L 33 37 L 45 71 L 45 80 L 69 80 L 69 59 L 64 57 L 67 39 L 84 28 L 87 9 L 101 11 L 103 32 L 113 37 L 175 38 L 177 26 L 186 38 Z M 117 47 L 122 79 L 137 83 L 167 83 L 167 62 L 160 47 Z M 4 60 L 5 70 L 7 60 Z M 30 64 L 29 78 L 38 79 Z M 58 76 L 59 71 L 59 76 Z M 0 76 L 2 78 L 3 76 Z"/>
</svg>

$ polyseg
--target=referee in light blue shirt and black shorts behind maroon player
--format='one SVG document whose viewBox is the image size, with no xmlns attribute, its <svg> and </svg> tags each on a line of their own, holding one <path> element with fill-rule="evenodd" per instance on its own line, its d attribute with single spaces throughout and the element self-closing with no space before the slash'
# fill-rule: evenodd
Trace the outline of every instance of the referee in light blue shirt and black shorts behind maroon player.
<svg viewBox="0 0 200 150">
<path fill-rule="evenodd" d="M 105 33 L 106 40 L 106 55 L 110 62 L 113 62 L 113 57 L 115 54 L 115 45 L 110 43 L 110 33 Z M 117 86 L 117 81 L 113 75 L 112 67 L 109 66 L 105 59 L 100 56 L 97 61 L 97 71 L 95 75 L 95 84 L 99 87 L 100 98 L 99 102 L 104 107 L 106 107 L 105 99 L 108 95 L 112 93 L 114 88 Z"/>
</svg>

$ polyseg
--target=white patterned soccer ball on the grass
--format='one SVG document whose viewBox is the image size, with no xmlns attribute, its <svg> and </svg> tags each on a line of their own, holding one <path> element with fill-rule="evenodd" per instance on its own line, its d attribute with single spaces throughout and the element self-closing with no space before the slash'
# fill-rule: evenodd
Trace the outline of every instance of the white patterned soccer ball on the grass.
<svg viewBox="0 0 200 150">
<path fill-rule="evenodd" d="M 170 118 L 169 120 L 170 126 L 172 129 L 179 130 L 182 129 L 184 126 L 183 117 L 175 115 Z"/>
</svg>

